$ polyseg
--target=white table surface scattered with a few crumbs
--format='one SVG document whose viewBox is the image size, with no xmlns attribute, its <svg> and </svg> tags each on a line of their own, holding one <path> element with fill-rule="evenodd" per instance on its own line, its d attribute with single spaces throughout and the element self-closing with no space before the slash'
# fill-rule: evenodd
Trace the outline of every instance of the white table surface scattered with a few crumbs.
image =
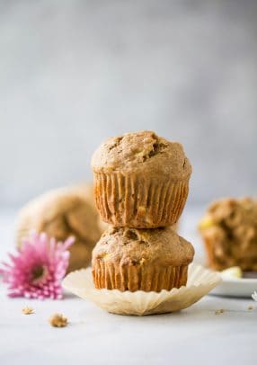
<svg viewBox="0 0 257 365">
<path fill-rule="evenodd" d="M 13 245 L 13 212 L 0 215 L 0 257 Z M 188 209 L 182 234 L 194 241 L 194 211 Z M 249 306 L 253 310 L 248 310 Z M 35 310 L 22 315 L 22 307 Z M 215 315 L 217 309 L 225 312 Z M 49 316 L 67 316 L 53 328 Z M 67 295 L 64 300 L 7 298 L 0 284 L 0 364 L 256 364 L 257 303 L 252 299 L 202 298 L 179 313 L 116 316 Z"/>
</svg>

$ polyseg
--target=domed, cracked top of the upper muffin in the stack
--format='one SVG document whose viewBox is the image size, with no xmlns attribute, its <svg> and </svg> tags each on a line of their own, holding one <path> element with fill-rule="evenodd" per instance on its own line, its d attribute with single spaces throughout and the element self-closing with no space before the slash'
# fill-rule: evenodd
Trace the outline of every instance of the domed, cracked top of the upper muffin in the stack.
<svg viewBox="0 0 257 365">
<path fill-rule="evenodd" d="M 191 174 L 191 164 L 178 142 L 144 130 L 107 139 L 93 154 L 94 172 L 146 170 L 183 178 Z"/>
</svg>

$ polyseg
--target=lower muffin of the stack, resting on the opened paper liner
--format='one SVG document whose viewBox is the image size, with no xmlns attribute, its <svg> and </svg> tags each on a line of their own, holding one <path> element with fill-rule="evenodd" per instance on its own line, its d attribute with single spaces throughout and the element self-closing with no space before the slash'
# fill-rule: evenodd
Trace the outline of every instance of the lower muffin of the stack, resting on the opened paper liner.
<svg viewBox="0 0 257 365">
<path fill-rule="evenodd" d="M 96 289 L 171 290 L 186 285 L 193 246 L 171 227 L 109 227 L 93 249 Z"/>
</svg>

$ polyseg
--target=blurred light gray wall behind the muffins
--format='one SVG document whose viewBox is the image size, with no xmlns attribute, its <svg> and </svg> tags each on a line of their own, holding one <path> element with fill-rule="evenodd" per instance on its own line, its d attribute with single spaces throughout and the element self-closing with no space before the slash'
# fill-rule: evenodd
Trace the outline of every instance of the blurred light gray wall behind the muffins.
<svg viewBox="0 0 257 365">
<path fill-rule="evenodd" d="M 92 178 L 102 139 L 155 129 L 191 203 L 257 191 L 256 1 L 0 0 L 0 205 Z"/>
</svg>

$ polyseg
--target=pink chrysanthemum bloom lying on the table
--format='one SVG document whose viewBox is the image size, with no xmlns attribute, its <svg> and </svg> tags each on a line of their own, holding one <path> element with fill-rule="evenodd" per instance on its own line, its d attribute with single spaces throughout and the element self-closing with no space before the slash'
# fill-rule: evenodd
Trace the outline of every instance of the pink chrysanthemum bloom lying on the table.
<svg viewBox="0 0 257 365">
<path fill-rule="evenodd" d="M 74 237 L 57 243 L 45 233 L 32 233 L 24 239 L 17 254 L 9 254 L 11 263 L 3 263 L 0 269 L 8 284 L 8 296 L 62 298 L 61 280 L 69 260 L 67 248 L 73 243 Z"/>
</svg>

